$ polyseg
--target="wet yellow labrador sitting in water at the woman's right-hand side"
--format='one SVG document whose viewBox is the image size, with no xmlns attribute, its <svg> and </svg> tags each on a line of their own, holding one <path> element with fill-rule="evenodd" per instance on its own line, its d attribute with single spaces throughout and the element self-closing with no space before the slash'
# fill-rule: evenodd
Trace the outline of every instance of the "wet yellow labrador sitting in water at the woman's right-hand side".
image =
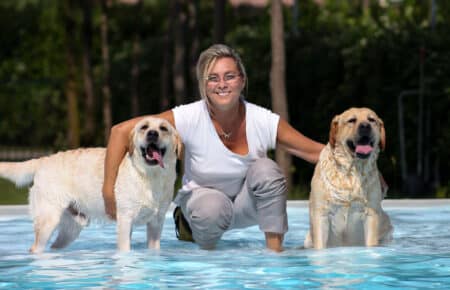
<svg viewBox="0 0 450 290">
<path fill-rule="evenodd" d="M 392 239 L 377 168 L 384 147 L 383 121 L 372 110 L 351 108 L 333 118 L 311 181 L 305 248 L 377 246 Z"/>
</svg>

